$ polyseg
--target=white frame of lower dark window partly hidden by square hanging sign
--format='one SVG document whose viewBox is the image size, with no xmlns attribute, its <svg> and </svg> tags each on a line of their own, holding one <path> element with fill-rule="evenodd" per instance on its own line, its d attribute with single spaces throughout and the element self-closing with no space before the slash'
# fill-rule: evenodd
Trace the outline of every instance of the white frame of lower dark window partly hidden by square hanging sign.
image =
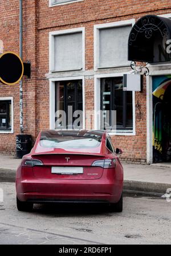
<svg viewBox="0 0 171 256">
<path fill-rule="evenodd" d="M 125 73 L 112 73 L 112 74 L 99 74 L 95 75 L 94 80 L 94 91 L 95 91 L 95 100 L 94 100 L 94 107 L 95 107 L 95 121 L 94 126 L 95 130 L 100 129 L 100 119 L 99 122 L 97 120 L 96 113 L 100 110 L 100 79 L 101 78 L 108 78 L 108 77 L 123 77 Z M 132 92 L 132 107 L 133 107 L 133 130 L 119 130 L 119 131 L 111 131 L 109 135 L 127 135 L 127 136 L 135 136 L 136 135 L 136 107 L 135 107 L 135 91 Z"/>
</svg>

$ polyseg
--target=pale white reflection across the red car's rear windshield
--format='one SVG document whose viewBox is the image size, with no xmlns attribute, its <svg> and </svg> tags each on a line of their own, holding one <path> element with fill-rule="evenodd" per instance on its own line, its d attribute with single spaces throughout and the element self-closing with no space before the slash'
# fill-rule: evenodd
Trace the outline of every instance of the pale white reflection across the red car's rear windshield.
<svg viewBox="0 0 171 256">
<path fill-rule="evenodd" d="M 40 146 L 55 149 L 89 149 L 99 147 L 101 138 L 79 137 L 74 135 L 42 136 Z"/>
</svg>

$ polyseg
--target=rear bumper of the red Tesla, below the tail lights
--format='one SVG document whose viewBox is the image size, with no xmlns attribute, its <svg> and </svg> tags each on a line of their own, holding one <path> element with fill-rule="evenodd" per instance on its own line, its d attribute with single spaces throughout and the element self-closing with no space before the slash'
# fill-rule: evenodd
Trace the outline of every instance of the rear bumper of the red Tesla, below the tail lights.
<svg viewBox="0 0 171 256">
<path fill-rule="evenodd" d="M 47 202 L 118 202 L 123 191 L 123 182 L 96 180 L 16 180 L 17 197 L 20 201 Z"/>
</svg>

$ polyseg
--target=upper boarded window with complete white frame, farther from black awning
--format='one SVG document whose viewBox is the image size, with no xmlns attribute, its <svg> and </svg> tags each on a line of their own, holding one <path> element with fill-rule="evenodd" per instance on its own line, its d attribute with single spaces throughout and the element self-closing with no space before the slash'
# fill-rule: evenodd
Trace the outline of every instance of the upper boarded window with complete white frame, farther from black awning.
<svg viewBox="0 0 171 256">
<path fill-rule="evenodd" d="M 50 32 L 50 72 L 84 69 L 84 27 Z"/>
</svg>

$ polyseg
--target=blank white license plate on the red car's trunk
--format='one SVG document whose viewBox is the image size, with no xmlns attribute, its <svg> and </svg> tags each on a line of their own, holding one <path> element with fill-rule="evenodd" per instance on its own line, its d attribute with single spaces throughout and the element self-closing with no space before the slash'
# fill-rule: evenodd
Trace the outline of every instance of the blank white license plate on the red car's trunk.
<svg viewBox="0 0 171 256">
<path fill-rule="evenodd" d="M 51 173 L 54 174 L 82 174 L 83 167 L 52 167 Z"/>
</svg>

